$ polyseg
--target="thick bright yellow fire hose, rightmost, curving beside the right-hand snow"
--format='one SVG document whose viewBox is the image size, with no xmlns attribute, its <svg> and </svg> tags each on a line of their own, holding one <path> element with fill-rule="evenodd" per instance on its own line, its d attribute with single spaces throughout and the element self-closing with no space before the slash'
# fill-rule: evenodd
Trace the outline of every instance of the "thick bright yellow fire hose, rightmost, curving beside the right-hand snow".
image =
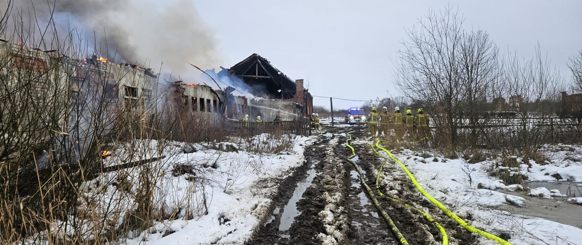
<svg viewBox="0 0 582 245">
<path fill-rule="evenodd" d="M 428 200 L 431 201 L 431 203 L 435 204 L 438 208 L 440 208 L 443 212 L 445 212 L 445 214 L 452 218 L 454 221 L 456 221 L 459 225 L 463 226 L 463 228 L 469 230 L 469 232 L 471 233 L 477 233 L 487 239 L 490 240 L 494 240 L 496 243 L 498 244 L 502 244 L 502 245 L 512 245 L 511 243 L 507 242 L 506 240 L 501 239 L 501 237 L 495 236 L 491 233 L 485 232 L 483 230 L 474 228 L 473 226 L 470 226 L 469 224 L 467 224 L 466 221 L 464 221 L 462 218 L 460 218 L 459 216 L 457 216 L 456 214 L 454 214 L 453 212 L 451 212 L 448 208 L 446 208 L 442 203 L 440 203 L 437 199 L 434 199 L 434 197 L 432 197 L 430 194 L 428 194 L 420 185 L 418 185 L 418 182 L 416 182 L 416 179 L 414 178 L 414 176 L 410 173 L 410 171 L 408 171 L 408 168 L 406 168 L 406 166 L 404 166 L 404 164 L 402 164 L 398 159 L 396 159 L 395 157 L 392 156 L 392 153 L 390 153 L 388 150 L 384 149 L 384 147 L 380 146 L 379 143 L 382 140 L 378 140 L 376 142 L 376 147 L 378 149 L 384 150 L 384 152 L 388 153 L 388 156 L 390 156 L 390 158 L 392 158 L 393 161 L 395 161 L 396 163 L 400 164 L 400 167 L 403 168 L 404 172 L 406 172 L 406 174 L 408 175 L 408 177 L 410 178 L 410 180 L 412 181 L 412 183 L 414 184 L 414 186 L 416 186 L 416 189 L 418 189 L 418 191 L 420 193 L 423 194 L 423 196 L 427 197 Z"/>
</svg>

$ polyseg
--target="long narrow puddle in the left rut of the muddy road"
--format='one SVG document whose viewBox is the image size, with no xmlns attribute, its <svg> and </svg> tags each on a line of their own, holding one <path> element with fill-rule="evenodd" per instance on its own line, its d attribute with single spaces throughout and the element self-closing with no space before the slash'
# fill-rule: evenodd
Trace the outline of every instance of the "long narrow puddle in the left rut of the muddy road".
<svg viewBox="0 0 582 245">
<path fill-rule="evenodd" d="M 291 228 L 291 224 L 293 224 L 295 217 L 301 214 L 301 212 L 297 210 L 297 202 L 301 200 L 301 196 L 303 196 L 303 193 L 305 193 L 305 190 L 307 190 L 317 175 L 317 171 L 314 170 L 314 167 L 315 163 L 312 164 L 311 169 L 307 171 L 307 178 L 303 181 L 297 182 L 295 190 L 293 191 L 293 196 L 289 199 L 289 202 L 283 208 L 279 230 L 285 231 Z"/>
</svg>

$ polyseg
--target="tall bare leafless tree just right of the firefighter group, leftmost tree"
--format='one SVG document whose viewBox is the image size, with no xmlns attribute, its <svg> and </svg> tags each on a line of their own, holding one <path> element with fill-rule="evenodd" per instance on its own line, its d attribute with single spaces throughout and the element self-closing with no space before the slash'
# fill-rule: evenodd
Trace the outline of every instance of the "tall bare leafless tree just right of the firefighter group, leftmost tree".
<svg viewBox="0 0 582 245">
<path fill-rule="evenodd" d="M 396 79 L 405 96 L 427 103 L 427 112 L 441 135 L 457 145 L 457 114 L 462 98 L 459 48 L 462 45 L 463 17 L 452 8 L 430 11 L 418 21 L 418 28 L 407 30 L 408 41 L 399 51 Z"/>
</svg>

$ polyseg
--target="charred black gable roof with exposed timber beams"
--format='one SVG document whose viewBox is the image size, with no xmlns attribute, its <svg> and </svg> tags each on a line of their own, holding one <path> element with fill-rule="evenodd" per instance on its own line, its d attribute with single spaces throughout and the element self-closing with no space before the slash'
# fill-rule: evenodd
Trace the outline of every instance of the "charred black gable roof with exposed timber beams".
<svg viewBox="0 0 582 245">
<path fill-rule="evenodd" d="M 251 93 L 255 96 L 267 95 L 271 99 L 291 99 L 295 95 L 295 82 L 256 53 L 230 67 L 229 71 L 242 78 L 251 87 Z"/>
</svg>

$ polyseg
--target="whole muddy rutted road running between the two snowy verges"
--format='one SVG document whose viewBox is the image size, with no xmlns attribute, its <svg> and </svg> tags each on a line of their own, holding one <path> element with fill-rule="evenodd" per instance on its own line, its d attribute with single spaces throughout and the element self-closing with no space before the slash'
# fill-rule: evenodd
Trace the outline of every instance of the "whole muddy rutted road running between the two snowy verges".
<svg viewBox="0 0 582 245">
<path fill-rule="evenodd" d="M 379 217 L 377 208 L 361 186 L 359 174 L 346 160 L 351 150 L 346 146 L 346 133 L 353 133 L 350 145 L 356 150 L 354 161 L 365 182 L 375 189 L 375 179 L 383 158 L 375 154 L 364 127 L 324 127 L 313 145 L 304 153 L 306 162 L 282 185 L 274 200 L 271 217 L 253 239 L 246 244 L 400 244 L 389 226 Z M 382 192 L 406 201 L 443 225 L 449 243 L 476 244 L 475 237 L 442 214 L 421 197 L 411 182 L 394 164 L 386 163 Z M 441 244 L 439 230 L 422 215 L 402 205 L 376 196 L 409 244 Z"/>
</svg>

